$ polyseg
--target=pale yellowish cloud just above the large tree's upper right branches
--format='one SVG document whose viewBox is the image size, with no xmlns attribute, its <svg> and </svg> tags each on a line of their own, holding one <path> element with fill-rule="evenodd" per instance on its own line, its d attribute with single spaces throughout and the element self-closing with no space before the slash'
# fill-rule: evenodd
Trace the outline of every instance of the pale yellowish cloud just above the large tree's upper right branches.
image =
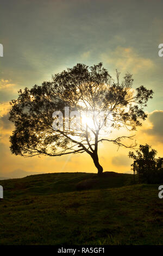
<svg viewBox="0 0 163 256">
<path fill-rule="evenodd" d="M 108 64 L 114 64 L 118 70 L 129 71 L 137 74 L 139 71 L 149 71 L 154 67 L 154 63 L 149 58 L 140 56 L 134 48 L 118 46 L 115 51 L 103 53 L 103 61 Z"/>
</svg>

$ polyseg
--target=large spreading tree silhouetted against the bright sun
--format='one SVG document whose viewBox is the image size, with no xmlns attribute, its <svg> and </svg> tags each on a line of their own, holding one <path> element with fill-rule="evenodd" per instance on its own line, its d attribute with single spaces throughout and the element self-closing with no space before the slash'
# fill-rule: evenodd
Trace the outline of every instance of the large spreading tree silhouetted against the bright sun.
<svg viewBox="0 0 163 256">
<path fill-rule="evenodd" d="M 133 139 L 133 136 L 110 138 L 102 136 L 101 132 L 110 126 L 112 129 L 136 130 L 141 126 L 141 119 L 147 118 L 143 108 L 148 99 L 152 99 L 153 91 L 143 86 L 134 90 L 132 85 L 132 75 L 127 73 L 120 82 L 120 72 L 116 71 L 114 81 L 99 63 L 90 68 L 77 64 L 54 75 L 52 82 L 20 90 L 18 99 L 10 102 L 9 120 L 15 124 L 10 137 L 11 153 L 27 157 L 86 152 L 98 174 L 102 174 L 103 167 L 98 160 L 99 142 L 113 142 L 118 147 L 127 148 L 134 145 L 123 143 L 123 139 Z M 84 129 L 76 129 L 79 119 L 76 115 L 67 118 L 65 107 L 69 107 L 70 112 L 78 111 L 80 121 L 85 123 Z M 60 114 L 54 115 L 54 111 L 62 113 L 63 126 L 59 124 Z M 93 113 L 91 118 L 83 114 L 89 112 Z M 97 120 L 101 113 L 104 113 L 103 121 Z M 65 125 L 67 119 L 70 123 L 76 120 L 76 125 Z M 58 127 L 56 130 L 53 123 Z"/>
</svg>

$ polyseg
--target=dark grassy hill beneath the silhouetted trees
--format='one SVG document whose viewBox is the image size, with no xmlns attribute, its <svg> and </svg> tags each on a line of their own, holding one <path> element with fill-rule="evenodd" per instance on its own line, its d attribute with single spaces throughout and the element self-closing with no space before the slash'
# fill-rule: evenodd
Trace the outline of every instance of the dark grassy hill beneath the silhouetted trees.
<svg viewBox="0 0 163 256">
<path fill-rule="evenodd" d="M 0 245 L 163 245 L 158 185 L 132 181 L 117 173 L 1 180 Z"/>
</svg>

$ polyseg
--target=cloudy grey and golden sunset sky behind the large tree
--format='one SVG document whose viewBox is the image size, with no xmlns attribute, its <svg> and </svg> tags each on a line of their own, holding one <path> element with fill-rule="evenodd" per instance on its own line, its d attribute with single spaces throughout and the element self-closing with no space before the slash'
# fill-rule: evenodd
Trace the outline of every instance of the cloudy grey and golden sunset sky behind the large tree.
<svg viewBox="0 0 163 256">
<path fill-rule="evenodd" d="M 0 1 L 0 177 L 16 178 L 35 173 L 97 172 L 87 154 L 30 157 L 11 155 L 9 101 L 17 91 L 51 81 L 52 75 L 77 63 L 102 62 L 114 77 L 115 70 L 133 74 L 134 88 L 153 89 L 148 119 L 135 132 L 138 144 L 163 155 L 163 1 L 155 0 L 15 0 Z M 125 133 L 126 131 L 123 131 Z M 104 171 L 129 172 L 128 149 L 101 144 L 99 162 Z"/>
</svg>

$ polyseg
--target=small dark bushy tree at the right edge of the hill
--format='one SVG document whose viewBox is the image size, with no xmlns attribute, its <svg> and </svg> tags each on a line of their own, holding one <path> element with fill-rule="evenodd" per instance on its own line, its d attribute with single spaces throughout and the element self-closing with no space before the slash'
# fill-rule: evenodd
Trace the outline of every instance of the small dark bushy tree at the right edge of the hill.
<svg viewBox="0 0 163 256">
<path fill-rule="evenodd" d="M 151 146 L 139 145 L 139 149 L 134 152 L 129 151 L 129 157 L 134 159 L 134 163 L 131 164 L 132 169 L 139 175 L 139 182 L 152 183 L 158 180 L 158 170 L 162 167 L 162 158 L 155 158 L 157 151 L 151 149 Z"/>
</svg>

